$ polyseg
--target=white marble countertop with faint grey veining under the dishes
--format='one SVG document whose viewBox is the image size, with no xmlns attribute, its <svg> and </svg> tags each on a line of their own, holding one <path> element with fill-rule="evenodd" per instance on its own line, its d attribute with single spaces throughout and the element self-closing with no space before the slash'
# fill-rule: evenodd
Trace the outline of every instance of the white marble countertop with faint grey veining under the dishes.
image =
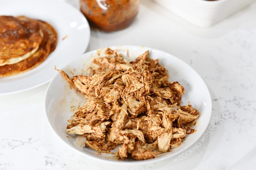
<svg viewBox="0 0 256 170">
<path fill-rule="evenodd" d="M 70 1 L 78 6 L 78 1 Z M 91 31 L 89 51 L 133 44 L 166 51 L 188 63 L 212 98 L 210 135 L 187 154 L 144 166 L 114 166 L 81 156 L 51 130 L 44 113 L 47 85 L 0 96 L 0 169 L 253 170 L 256 166 L 256 5 L 208 29 L 187 24 L 152 1 L 141 0 L 123 31 Z M 215 117 L 215 119 L 214 119 Z M 189 155 L 190 154 L 190 155 Z"/>
</svg>

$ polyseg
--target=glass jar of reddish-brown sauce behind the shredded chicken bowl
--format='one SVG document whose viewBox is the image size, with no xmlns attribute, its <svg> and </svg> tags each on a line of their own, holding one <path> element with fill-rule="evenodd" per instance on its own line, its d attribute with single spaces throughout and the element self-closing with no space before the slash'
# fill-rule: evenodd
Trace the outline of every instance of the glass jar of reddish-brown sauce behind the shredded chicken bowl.
<svg viewBox="0 0 256 170">
<path fill-rule="evenodd" d="M 128 27 L 139 11 L 139 0 L 80 0 L 89 24 L 102 31 Z"/>
</svg>

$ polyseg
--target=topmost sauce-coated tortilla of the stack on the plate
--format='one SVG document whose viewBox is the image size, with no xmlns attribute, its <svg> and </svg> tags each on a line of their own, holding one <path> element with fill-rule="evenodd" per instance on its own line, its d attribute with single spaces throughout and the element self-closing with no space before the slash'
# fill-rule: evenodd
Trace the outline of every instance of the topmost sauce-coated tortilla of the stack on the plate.
<svg viewBox="0 0 256 170">
<path fill-rule="evenodd" d="M 0 16 L 0 66 L 29 58 L 42 40 L 42 28 L 36 20 Z"/>
</svg>

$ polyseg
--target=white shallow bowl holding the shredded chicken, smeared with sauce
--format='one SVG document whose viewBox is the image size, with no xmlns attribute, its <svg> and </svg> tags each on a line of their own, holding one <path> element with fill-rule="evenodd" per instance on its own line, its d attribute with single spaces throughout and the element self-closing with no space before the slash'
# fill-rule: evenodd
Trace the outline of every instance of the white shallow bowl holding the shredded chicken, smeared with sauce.
<svg viewBox="0 0 256 170">
<path fill-rule="evenodd" d="M 112 158 L 111 154 L 101 154 L 90 148 L 79 148 L 74 145 L 74 138 L 67 138 L 65 129 L 67 127 L 67 120 L 74 114 L 74 108 L 71 106 L 78 106 L 84 104 L 84 97 L 74 89 L 70 88 L 69 84 L 62 78 L 60 74 L 54 76 L 50 82 L 45 95 L 45 112 L 50 126 L 54 132 L 64 141 L 68 146 L 79 151 L 90 158 L 95 158 L 103 161 L 112 161 L 115 163 L 146 163 L 154 162 L 162 159 L 173 157 L 183 151 L 187 151 L 193 143 L 195 143 L 206 130 L 211 117 L 211 96 L 208 88 L 202 78 L 193 70 L 188 64 L 182 62 L 182 60 L 174 57 L 173 55 L 167 54 L 166 52 L 138 46 L 116 46 L 110 47 L 112 49 L 119 49 L 123 56 L 127 56 L 129 53 L 128 60 L 133 60 L 140 54 L 143 54 L 146 50 L 150 50 L 150 57 L 153 59 L 160 59 L 160 63 L 166 67 L 170 75 L 170 81 L 178 81 L 184 86 L 185 94 L 182 96 L 181 104 L 186 105 L 189 101 L 193 107 L 197 108 L 201 115 L 196 120 L 195 129 L 197 130 L 194 134 L 187 135 L 184 142 L 174 148 L 169 153 L 158 155 L 158 158 L 149 159 L 146 161 L 118 161 Z M 69 76 L 74 74 L 82 74 L 86 70 L 87 66 L 91 63 L 93 58 L 97 58 L 98 52 L 91 51 L 80 56 L 72 63 L 65 66 L 62 70 L 67 72 Z"/>
</svg>

